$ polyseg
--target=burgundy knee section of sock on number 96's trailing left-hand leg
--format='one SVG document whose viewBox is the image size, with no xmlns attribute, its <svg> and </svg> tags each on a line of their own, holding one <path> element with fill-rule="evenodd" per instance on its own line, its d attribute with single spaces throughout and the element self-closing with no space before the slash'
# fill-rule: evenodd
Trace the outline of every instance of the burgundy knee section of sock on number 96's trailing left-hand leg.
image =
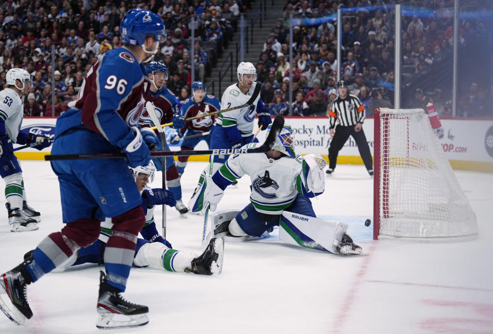
<svg viewBox="0 0 493 334">
<path fill-rule="evenodd" d="M 98 239 L 101 232 L 101 220 L 77 219 L 67 223 L 61 232 L 65 238 L 76 243 L 79 247 L 86 247 Z M 67 243 L 67 240 L 65 240 L 65 243 Z"/>
</svg>

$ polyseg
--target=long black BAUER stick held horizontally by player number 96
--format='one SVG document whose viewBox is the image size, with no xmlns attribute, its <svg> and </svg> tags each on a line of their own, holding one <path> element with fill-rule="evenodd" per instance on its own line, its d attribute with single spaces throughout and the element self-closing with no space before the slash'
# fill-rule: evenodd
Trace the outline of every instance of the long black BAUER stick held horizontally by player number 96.
<svg viewBox="0 0 493 334">
<path fill-rule="evenodd" d="M 176 157 L 176 156 L 191 156 L 191 155 L 230 155 L 230 154 L 250 154 L 250 153 L 266 153 L 271 149 L 276 141 L 277 136 L 281 132 L 284 125 L 284 118 L 282 116 L 276 116 L 272 122 L 271 131 L 265 139 L 265 142 L 253 149 L 246 149 L 241 147 L 240 149 L 215 149 L 215 150 L 192 150 L 192 151 L 154 151 L 151 152 L 151 157 Z M 80 159 L 113 159 L 113 158 L 125 158 L 126 155 L 123 152 L 115 153 L 87 153 L 87 154 L 56 154 L 46 155 L 46 161 L 52 160 L 80 160 Z"/>
</svg>

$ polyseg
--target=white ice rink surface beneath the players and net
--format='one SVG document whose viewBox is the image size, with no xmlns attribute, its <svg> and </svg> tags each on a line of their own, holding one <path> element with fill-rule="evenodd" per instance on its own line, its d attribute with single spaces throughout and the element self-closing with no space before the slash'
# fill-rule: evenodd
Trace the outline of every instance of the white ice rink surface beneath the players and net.
<svg viewBox="0 0 493 334">
<path fill-rule="evenodd" d="M 190 198 L 203 162 L 181 178 Z M 58 181 L 44 161 L 23 161 L 29 204 L 42 214 L 40 229 L 11 233 L 0 224 L 0 271 L 22 261 L 47 234 L 61 229 Z M 150 323 L 111 332 L 149 333 L 491 333 L 493 332 L 493 175 L 455 172 L 476 212 L 479 238 L 462 243 L 372 242 L 372 179 L 363 166 L 338 165 L 326 191 L 313 200 L 319 217 L 349 223 L 369 256 L 342 257 L 264 240 L 226 243 L 223 273 L 199 276 L 132 269 L 124 297 L 148 305 Z M 154 186 L 161 184 L 160 173 Z M 246 178 L 227 189 L 217 210 L 248 203 Z M 156 222 L 161 221 L 156 210 Z M 203 216 L 168 209 L 173 247 L 200 252 Z M 0 313 L 0 333 L 91 333 L 98 270 L 85 265 L 50 273 L 28 287 L 34 316 L 23 327 Z"/>
</svg>

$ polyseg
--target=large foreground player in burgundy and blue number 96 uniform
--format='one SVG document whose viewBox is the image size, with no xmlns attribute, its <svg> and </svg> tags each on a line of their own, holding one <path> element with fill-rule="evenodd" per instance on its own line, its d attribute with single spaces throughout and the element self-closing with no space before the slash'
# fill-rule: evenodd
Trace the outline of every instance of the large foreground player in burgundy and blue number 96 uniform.
<svg viewBox="0 0 493 334">
<path fill-rule="evenodd" d="M 137 234 L 145 217 L 141 196 L 128 165 L 147 165 L 150 148 L 160 141 L 142 131 L 142 110 L 147 72 L 142 62 L 151 59 L 164 38 L 158 15 L 131 9 L 122 18 L 122 47 L 106 52 L 89 69 L 77 101 L 57 119 L 52 154 L 124 152 L 125 159 L 56 160 L 52 169 L 60 182 L 60 232 L 44 238 L 32 258 L 0 276 L 0 308 L 16 324 L 32 317 L 27 284 L 62 265 L 75 251 L 93 244 L 101 220 L 111 217 L 112 235 L 104 251 L 106 273 L 101 271 L 97 302 L 98 328 L 121 328 L 149 322 L 147 306 L 125 301 L 120 295 L 134 259 Z M 9 303 L 10 299 L 10 303 Z"/>
</svg>

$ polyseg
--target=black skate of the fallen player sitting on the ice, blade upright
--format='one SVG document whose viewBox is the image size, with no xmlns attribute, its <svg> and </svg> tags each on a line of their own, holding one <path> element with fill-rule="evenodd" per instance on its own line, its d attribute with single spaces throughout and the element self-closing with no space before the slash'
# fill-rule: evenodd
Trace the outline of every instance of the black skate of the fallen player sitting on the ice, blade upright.
<svg viewBox="0 0 493 334">
<path fill-rule="evenodd" d="M 220 274 L 223 271 L 223 256 L 223 238 L 212 238 L 204 253 L 192 260 L 192 268 L 185 271 L 198 275 Z"/>
</svg>

